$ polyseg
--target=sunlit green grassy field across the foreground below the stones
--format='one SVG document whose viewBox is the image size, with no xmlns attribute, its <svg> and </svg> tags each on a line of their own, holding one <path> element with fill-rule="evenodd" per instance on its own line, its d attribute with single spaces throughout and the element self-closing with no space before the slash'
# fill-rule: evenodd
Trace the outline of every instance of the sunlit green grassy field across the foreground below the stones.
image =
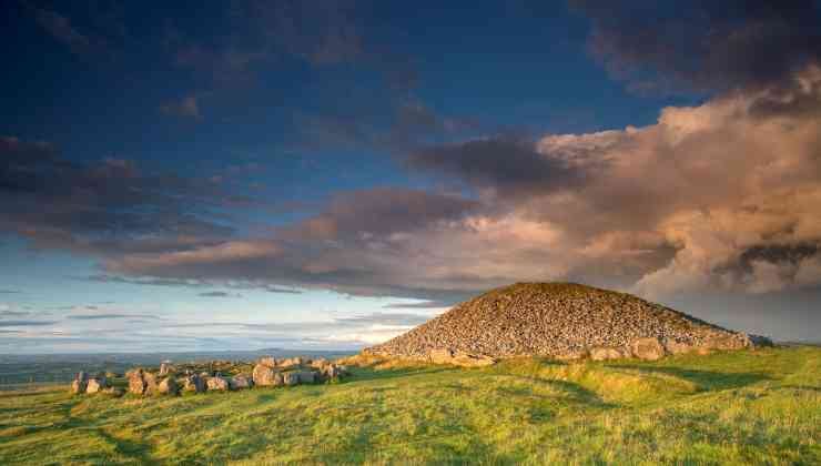
<svg viewBox="0 0 821 466">
<path fill-rule="evenodd" d="M 821 464 L 821 348 L 122 398 L 0 393 L 0 464 Z"/>
</svg>

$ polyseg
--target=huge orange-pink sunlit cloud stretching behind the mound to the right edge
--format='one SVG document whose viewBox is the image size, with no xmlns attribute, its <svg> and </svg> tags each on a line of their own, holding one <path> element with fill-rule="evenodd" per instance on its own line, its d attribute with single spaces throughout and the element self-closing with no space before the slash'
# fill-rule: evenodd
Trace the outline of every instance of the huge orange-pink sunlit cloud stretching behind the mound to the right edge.
<svg viewBox="0 0 821 466">
<path fill-rule="evenodd" d="M 809 67 L 791 85 L 667 108 L 645 128 L 429 148 L 411 166 L 475 196 L 359 191 L 270 237 L 107 267 L 444 302 L 523 280 L 649 296 L 808 286 L 819 282 L 821 120 L 807 109 L 819 107 L 821 69 Z"/>
</svg>

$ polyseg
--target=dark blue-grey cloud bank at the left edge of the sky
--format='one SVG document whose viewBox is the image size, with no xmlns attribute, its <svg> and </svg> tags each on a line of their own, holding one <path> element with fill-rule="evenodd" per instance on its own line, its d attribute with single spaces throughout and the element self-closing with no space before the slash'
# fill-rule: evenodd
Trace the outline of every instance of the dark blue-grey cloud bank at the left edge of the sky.
<svg viewBox="0 0 821 466">
<path fill-rule="evenodd" d="M 37 247 L 91 254 L 169 251 L 224 237 L 209 219 L 226 195 L 209 183 L 105 159 L 79 164 L 43 142 L 0 138 L 0 230 Z"/>
</svg>

